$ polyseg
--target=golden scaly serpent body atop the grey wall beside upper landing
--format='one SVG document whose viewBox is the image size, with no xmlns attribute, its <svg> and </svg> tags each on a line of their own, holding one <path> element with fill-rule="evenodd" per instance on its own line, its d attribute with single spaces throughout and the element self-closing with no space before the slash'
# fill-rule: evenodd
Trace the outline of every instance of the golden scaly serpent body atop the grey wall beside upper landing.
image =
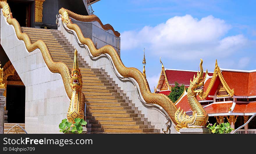
<svg viewBox="0 0 256 154">
<path fill-rule="evenodd" d="M 120 33 L 118 31 L 115 31 L 114 28 L 110 24 L 103 25 L 103 23 L 100 21 L 100 19 L 96 15 L 88 15 L 88 16 L 78 15 L 70 10 L 65 9 L 65 8 L 61 8 L 59 10 L 59 14 L 65 15 L 64 13 L 66 11 L 71 18 L 76 19 L 78 21 L 83 21 L 83 22 L 97 21 L 104 30 L 112 30 L 116 37 L 120 37 Z"/>
</svg>

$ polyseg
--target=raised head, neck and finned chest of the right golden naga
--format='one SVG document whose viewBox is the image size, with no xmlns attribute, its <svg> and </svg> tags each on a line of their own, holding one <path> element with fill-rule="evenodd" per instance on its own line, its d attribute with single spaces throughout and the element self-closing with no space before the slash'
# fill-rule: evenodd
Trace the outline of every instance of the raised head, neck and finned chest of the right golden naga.
<svg viewBox="0 0 256 154">
<path fill-rule="evenodd" d="M 197 76 L 193 78 L 193 81 L 190 79 L 190 86 L 187 90 L 188 103 L 190 105 L 191 110 L 193 111 L 192 116 L 188 116 L 185 112 L 180 111 L 180 108 L 175 113 L 175 120 L 178 121 L 177 128 L 202 128 L 208 120 L 208 114 L 202 105 L 198 102 L 196 96 L 202 99 L 204 82 L 207 75 L 207 70 L 205 77 L 203 77 L 203 68 L 202 68 L 203 60 L 200 62 L 200 73 L 197 72 Z M 180 126 L 179 126 L 180 125 Z"/>
</svg>

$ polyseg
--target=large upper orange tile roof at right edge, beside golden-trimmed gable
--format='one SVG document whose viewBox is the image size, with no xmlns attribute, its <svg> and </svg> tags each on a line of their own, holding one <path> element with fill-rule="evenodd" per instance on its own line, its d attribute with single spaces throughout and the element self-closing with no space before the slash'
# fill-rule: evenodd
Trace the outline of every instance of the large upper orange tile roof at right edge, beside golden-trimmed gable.
<svg viewBox="0 0 256 154">
<path fill-rule="evenodd" d="M 236 96 L 256 95 L 256 72 L 234 72 L 223 70 L 222 75 L 227 85 L 234 89 Z"/>
</svg>

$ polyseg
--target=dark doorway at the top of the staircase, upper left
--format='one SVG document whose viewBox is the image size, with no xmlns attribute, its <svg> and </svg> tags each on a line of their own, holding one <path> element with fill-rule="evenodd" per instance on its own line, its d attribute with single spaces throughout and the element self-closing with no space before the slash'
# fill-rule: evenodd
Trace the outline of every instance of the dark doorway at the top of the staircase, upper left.
<svg viewBox="0 0 256 154">
<path fill-rule="evenodd" d="M 21 27 L 31 27 L 31 3 L 23 1 L 7 1 L 10 6 L 13 18 Z"/>
</svg>

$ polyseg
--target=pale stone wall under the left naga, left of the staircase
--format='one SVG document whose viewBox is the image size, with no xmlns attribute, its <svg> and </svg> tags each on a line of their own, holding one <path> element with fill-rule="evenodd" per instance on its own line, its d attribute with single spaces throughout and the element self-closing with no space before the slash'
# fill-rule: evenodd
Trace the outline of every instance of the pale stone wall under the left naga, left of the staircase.
<svg viewBox="0 0 256 154">
<path fill-rule="evenodd" d="M 61 75 L 51 73 L 39 49 L 26 50 L 14 27 L 1 15 L 1 45 L 26 86 L 25 130 L 28 133 L 60 133 L 70 104 Z"/>
</svg>

